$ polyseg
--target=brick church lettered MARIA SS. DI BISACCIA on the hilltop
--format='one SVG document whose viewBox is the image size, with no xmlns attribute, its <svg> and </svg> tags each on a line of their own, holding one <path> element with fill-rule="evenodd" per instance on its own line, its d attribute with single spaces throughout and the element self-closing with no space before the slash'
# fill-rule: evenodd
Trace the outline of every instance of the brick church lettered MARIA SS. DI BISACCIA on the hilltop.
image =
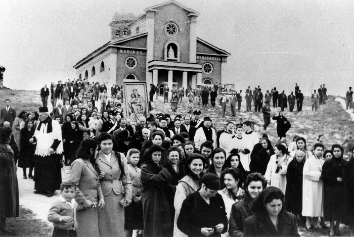
<svg viewBox="0 0 354 237">
<path fill-rule="evenodd" d="M 198 12 L 174 0 L 144 12 L 114 14 L 111 40 L 73 66 L 77 78 L 109 86 L 124 79 L 170 88 L 222 83 L 230 54 L 197 37 Z"/>
</svg>

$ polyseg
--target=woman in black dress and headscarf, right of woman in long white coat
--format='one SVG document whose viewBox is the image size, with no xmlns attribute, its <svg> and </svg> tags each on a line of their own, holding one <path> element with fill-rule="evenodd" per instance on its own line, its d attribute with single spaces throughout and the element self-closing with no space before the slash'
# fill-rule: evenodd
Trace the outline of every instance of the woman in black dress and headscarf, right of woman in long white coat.
<svg viewBox="0 0 354 237">
<path fill-rule="evenodd" d="M 325 185 L 323 212 L 325 220 L 330 221 L 330 236 L 340 236 L 339 224 L 345 221 L 346 207 L 343 202 L 344 183 L 342 180 L 344 149 L 339 144 L 332 146 L 333 158 L 322 166 L 321 176 Z M 334 221 L 336 222 L 334 225 Z"/>
</svg>

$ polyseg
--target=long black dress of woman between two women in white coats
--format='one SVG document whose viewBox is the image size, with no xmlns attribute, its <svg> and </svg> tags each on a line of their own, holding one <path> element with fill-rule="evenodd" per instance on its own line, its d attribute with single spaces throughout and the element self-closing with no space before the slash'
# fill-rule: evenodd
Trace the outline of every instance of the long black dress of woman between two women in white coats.
<svg viewBox="0 0 354 237">
<path fill-rule="evenodd" d="M 305 159 L 302 162 L 298 162 L 294 158 L 288 165 L 286 172 L 286 197 L 285 204 L 287 211 L 294 215 L 302 212 L 302 171 Z"/>
</svg>

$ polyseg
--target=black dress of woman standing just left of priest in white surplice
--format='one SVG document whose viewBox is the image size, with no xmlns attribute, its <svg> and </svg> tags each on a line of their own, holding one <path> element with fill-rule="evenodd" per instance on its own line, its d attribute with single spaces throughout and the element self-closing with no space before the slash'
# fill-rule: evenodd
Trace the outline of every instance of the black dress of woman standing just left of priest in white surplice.
<svg viewBox="0 0 354 237">
<path fill-rule="evenodd" d="M 31 127 L 29 131 L 27 127 L 21 129 L 20 155 L 18 167 L 27 168 L 34 167 L 34 152 L 36 145 L 29 142 L 33 137 L 35 126 Z"/>
</svg>

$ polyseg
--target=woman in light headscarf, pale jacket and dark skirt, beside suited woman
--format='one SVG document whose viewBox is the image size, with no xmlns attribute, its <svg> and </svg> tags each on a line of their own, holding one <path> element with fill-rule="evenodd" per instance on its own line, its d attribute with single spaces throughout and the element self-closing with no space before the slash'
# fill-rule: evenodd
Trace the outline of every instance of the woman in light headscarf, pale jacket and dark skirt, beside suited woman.
<svg viewBox="0 0 354 237">
<path fill-rule="evenodd" d="M 132 183 L 131 204 L 124 208 L 124 230 L 125 236 L 132 236 L 133 230 L 144 229 L 143 205 L 141 201 L 142 181 L 141 169 L 137 166 L 140 160 L 140 152 L 137 149 L 130 149 L 126 154 L 129 176 Z"/>
</svg>

